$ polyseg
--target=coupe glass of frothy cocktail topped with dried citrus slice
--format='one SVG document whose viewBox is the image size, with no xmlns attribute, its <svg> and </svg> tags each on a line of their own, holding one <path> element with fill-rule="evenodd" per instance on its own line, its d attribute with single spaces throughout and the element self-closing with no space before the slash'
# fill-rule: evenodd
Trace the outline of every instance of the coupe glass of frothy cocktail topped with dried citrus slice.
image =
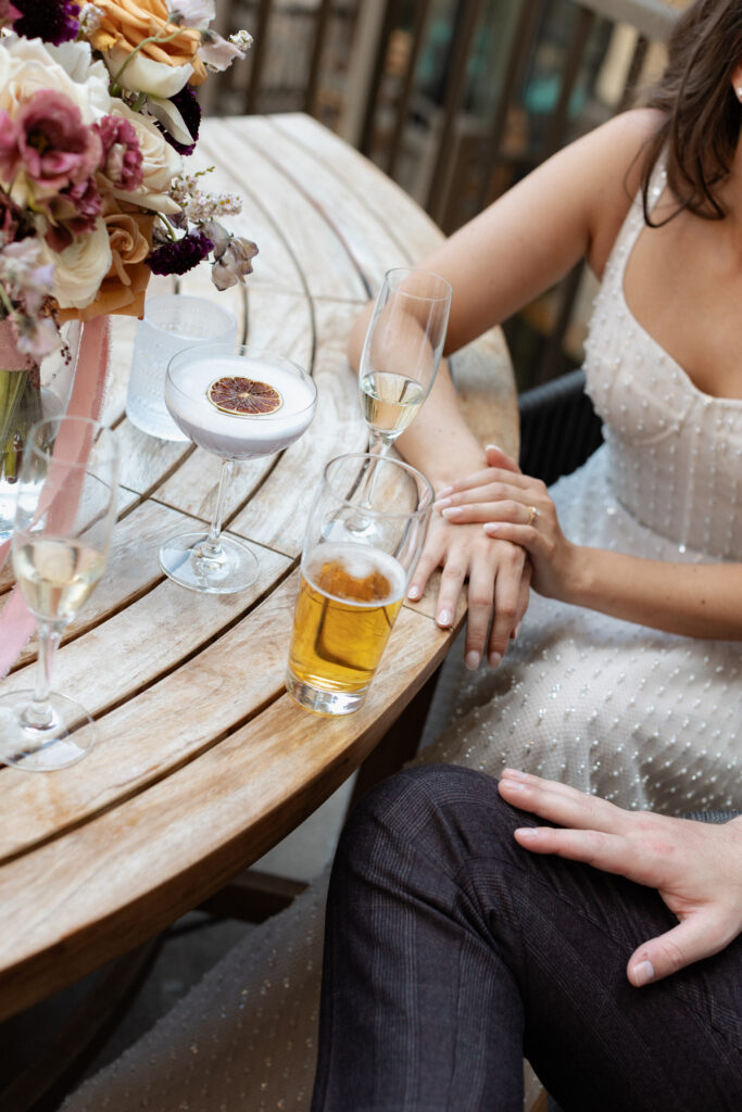
<svg viewBox="0 0 742 1112">
<path fill-rule="evenodd" d="M 258 563 L 246 544 L 221 532 L 235 460 L 281 451 L 297 440 L 314 417 L 317 388 L 301 367 L 280 355 L 216 344 L 172 357 L 165 401 L 186 436 L 221 458 L 221 476 L 208 533 L 166 540 L 160 567 L 191 590 L 243 590 L 255 580 Z"/>
</svg>

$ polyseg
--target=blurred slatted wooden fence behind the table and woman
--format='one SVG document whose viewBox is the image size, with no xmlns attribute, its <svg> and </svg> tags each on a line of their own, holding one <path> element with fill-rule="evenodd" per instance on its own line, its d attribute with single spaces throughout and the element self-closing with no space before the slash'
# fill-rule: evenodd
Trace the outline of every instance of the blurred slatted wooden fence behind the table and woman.
<svg viewBox="0 0 742 1112">
<path fill-rule="evenodd" d="M 689 0 L 219 0 L 245 62 L 206 113 L 303 111 L 451 234 L 566 142 L 630 105 L 664 64 Z M 493 266 L 497 260 L 493 259 Z M 518 389 L 582 364 L 583 266 L 504 325 Z"/>
</svg>

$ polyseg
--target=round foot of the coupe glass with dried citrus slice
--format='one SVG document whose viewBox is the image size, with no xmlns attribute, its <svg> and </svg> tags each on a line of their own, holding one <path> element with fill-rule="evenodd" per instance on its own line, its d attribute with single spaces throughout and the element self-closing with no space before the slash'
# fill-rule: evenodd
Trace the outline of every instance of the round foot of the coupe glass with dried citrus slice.
<svg viewBox="0 0 742 1112">
<path fill-rule="evenodd" d="M 160 548 L 160 567 L 174 583 L 210 595 L 230 595 L 255 583 L 258 562 L 241 540 L 221 534 L 207 552 L 208 533 L 181 533 Z"/>
</svg>

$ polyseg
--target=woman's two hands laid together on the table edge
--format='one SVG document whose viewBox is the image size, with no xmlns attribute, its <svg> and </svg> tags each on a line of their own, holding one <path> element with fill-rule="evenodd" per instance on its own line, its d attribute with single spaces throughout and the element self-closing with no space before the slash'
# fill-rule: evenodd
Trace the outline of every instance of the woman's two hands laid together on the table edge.
<svg viewBox="0 0 742 1112">
<path fill-rule="evenodd" d="M 578 553 L 562 533 L 544 483 L 522 475 L 499 448 L 488 446 L 485 455 L 486 468 L 439 492 L 438 515 L 409 585 L 409 597 L 421 598 L 443 567 L 436 620 L 448 626 L 468 577 L 465 659 L 472 669 L 485 644 L 489 666 L 501 663 L 518 634 L 531 585 L 563 597 Z"/>
</svg>

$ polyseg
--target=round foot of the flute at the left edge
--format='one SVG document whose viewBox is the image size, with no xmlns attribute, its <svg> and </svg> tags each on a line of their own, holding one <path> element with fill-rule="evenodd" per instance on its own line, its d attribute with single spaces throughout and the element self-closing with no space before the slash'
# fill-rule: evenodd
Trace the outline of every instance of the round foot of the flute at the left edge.
<svg viewBox="0 0 742 1112">
<path fill-rule="evenodd" d="M 49 725 L 32 726 L 24 721 L 32 699 L 30 689 L 0 696 L 0 762 L 23 772 L 57 772 L 87 756 L 96 731 L 85 707 L 52 692 Z"/>
</svg>

